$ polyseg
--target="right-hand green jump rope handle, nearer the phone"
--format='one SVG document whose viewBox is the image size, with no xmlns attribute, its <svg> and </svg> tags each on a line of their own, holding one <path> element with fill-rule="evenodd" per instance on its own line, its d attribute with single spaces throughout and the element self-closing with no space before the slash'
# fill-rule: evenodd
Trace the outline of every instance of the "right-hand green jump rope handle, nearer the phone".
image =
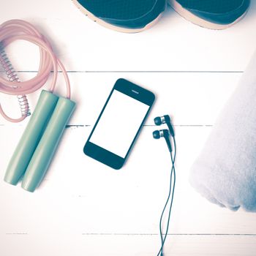
<svg viewBox="0 0 256 256">
<path fill-rule="evenodd" d="M 21 184 L 23 189 L 26 189 L 29 192 L 34 192 L 39 186 L 50 165 L 50 161 L 59 144 L 59 140 L 64 132 L 67 121 L 74 109 L 75 102 L 72 102 L 70 99 L 59 97 L 53 115 L 50 117 L 45 132 L 26 169 Z"/>
</svg>

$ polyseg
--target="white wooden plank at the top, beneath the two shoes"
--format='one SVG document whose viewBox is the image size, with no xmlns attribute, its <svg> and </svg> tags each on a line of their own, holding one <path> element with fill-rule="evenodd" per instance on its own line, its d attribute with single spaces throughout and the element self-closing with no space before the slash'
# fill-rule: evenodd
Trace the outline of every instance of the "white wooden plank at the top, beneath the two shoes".
<svg viewBox="0 0 256 256">
<path fill-rule="evenodd" d="M 10 0 L 1 6 L 0 23 L 11 18 L 33 23 L 50 38 L 69 70 L 243 71 L 256 45 L 255 10 L 252 1 L 236 26 L 213 31 L 189 23 L 168 7 L 154 28 L 122 34 L 95 24 L 69 0 Z M 18 70 L 37 70 L 37 51 L 25 45 L 8 51 L 13 64 Z"/>
</svg>

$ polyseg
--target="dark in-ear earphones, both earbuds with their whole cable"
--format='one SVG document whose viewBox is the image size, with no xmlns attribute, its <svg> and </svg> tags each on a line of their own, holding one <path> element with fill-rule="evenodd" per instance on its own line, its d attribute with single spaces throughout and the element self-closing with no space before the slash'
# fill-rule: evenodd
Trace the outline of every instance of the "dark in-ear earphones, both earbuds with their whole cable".
<svg viewBox="0 0 256 256">
<path fill-rule="evenodd" d="M 160 130 L 154 131 L 153 132 L 153 138 L 154 139 L 165 138 L 165 142 L 166 142 L 167 147 L 170 151 L 170 159 L 171 159 L 171 164 L 172 164 L 172 168 L 171 168 L 171 171 L 170 171 L 170 189 L 169 189 L 167 200 L 165 202 L 165 206 L 162 210 L 162 214 L 161 214 L 160 221 L 159 221 L 159 231 L 160 231 L 160 236 L 161 236 L 161 248 L 160 248 L 157 256 L 159 256 L 159 255 L 162 256 L 163 255 L 163 248 L 164 248 L 164 244 L 165 244 L 165 240 L 166 240 L 166 237 L 167 237 L 169 224 L 170 224 L 170 212 L 171 212 L 171 209 L 172 209 L 172 206 L 173 206 L 173 196 L 174 196 L 174 189 L 175 189 L 175 184 L 176 184 L 176 170 L 175 170 L 176 139 L 175 139 L 175 133 L 174 133 L 173 125 L 171 124 L 171 121 L 170 121 L 170 116 L 168 116 L 168 115 L 157 116 L 156 118 L 154 118 L 154 124 L 156 124 L 157 126 L 160 126 L 162 124 L 167 124 L 168 129 L 160 129 Z M 172 143 L 171 143 L 172 140 L 173 140 L 174 152 L 173 152 L 173 149 L 172 149 Z M 170 200 L 170 198 L 171 198 L 171 200 Z M 168 218 L 167 218 L 167 227 L 166 227 L 166 230 L 165 230 L 165 236 L 163 236 L 163 233 L 162 233 L 162 217 L 165 214 L 165 210 L 167 208 L 169 200 L 170 200 L 170 207 L 169 207 Z"/>
</svg>

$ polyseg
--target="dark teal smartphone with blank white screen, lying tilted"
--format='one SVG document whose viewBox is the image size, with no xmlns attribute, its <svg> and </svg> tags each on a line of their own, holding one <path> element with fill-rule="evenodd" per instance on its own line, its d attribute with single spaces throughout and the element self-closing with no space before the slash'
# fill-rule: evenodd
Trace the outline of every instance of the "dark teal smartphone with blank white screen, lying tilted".
<svg viewBox="0 0 256 256">
<path fill-rule="evenodd" d="M 83 148 L 84 154 L 118 170 L 153 105 L 155 96 L 123 78 L 116 81 Z"/>
</svg>

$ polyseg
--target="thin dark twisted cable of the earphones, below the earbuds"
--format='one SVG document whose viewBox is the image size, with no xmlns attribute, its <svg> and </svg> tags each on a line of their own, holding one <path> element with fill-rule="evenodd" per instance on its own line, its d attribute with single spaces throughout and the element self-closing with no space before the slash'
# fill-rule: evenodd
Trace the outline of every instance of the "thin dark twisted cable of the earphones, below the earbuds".
<svg viewBox="0 0 256 256">
<path fill-rule="evenodd" d="M 171 162 L 172 162 L 172 169 L 171 169 L 171 173 L 170 173 L 170 189 L 169 189 L 169 194 L 168 194 L 168 197 L 167 197 L 167 200 L 166 200 L 166 203 L 165 203 L 165 207 L 162 210 L 162 214 L 161 214 L 161 218 L 160 218 L 160 222 L 159 222 L 159 230 L 160 230 L 162 246 L 161 246 L 157 256 L 159 256 L 160 253 L 161 253 L 161 256 L 163 255 L 162 250 L 163 250 L 163 247 L 164 247 L 164 244 L 165 244 L 165 240 L 167 238 L 167 233 L 168 233 L 168 229 L 169 229 L 169 225 L 170 225 L 170 212 L 171 212 L 171 209 L 172 209 L 172 206 L 173 206 L 173 196 L 174 196 L 174 190 L 175 190 L 175 185 L 176 185 L 176 170 L 175 170 L 176 139 L 175 139 L 175 137 L 173 137 L 173 144 L 174 144 L 174 156 L 170 153 L 170 158 L 171 158 Z M 172 178 L 173 178 L 173 187 L 172 187 Z M 172 195 L 171 200 L 170 200 L 170 195 Z M 165 237 L 162 238 L 162 236 L 163 236 L 163 234 L 162 234 L 162 217 L 165 213 L 165 209 L 167 207 L 167 203 L 169 202 L 169 200 L 170 200 L 170 208 L 169 208 L 169 214 L 168 214 L 168 220 L 167 220 L 167 227 L 166 227 L 166 231 L 165 231 Z"/>
</svg>

